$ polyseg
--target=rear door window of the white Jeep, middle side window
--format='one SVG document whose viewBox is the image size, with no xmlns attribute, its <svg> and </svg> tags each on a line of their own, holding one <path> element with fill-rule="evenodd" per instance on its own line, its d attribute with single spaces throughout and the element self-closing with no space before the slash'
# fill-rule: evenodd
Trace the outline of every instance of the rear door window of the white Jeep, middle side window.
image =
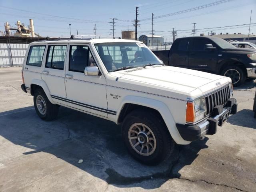
<svg viewBox="0 0 256 192">
<path fill-rule="evenodd" d="M 66 45 L 48 46 L 46 68 L 63 70 L 66 55 Z"/>
</svg>

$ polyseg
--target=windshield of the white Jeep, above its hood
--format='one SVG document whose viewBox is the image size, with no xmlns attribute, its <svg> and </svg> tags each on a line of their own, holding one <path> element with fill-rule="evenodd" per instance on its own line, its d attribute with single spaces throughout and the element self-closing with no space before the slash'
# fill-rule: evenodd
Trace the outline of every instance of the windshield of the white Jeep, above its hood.
<svg viewBox="0 0 256 192">
<path fill-rule="evenodd" d="M 111 42 L 94 46 L 108 72 L 162 64 L 144 43 Z"/>
</svg>

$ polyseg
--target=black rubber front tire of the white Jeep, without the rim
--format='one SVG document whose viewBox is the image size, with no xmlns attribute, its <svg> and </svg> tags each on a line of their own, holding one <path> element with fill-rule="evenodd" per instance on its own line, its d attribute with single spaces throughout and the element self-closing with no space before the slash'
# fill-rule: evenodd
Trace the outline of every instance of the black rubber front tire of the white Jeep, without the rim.
<svg viewBox="0 0 256 192">
<path fill-rule="evenodd" d="M 136 152 L 130 143 L 129 130 L 130 127 L 136 123 L 146 125 L 154 134 L 156 147 L 154 150 L 153 147 L 151 148 L 152 154 L 149 152 L 148 156 L 144 156 Z M 153 134 L 149 134 L 148 136 L 153 137 Z M 137 136 L 139 138 L 139 134 L 137 134 Z M 154 112 L 154 110 L 138 109 L 128 114 L 122 123 L 122 138 L 133 158 L 142 164 L 151 166 L 157 165 L 163 160 L 167 159 L 170 154 L 172 154 L 175 146 L 174 140 L 170 136 L 162 117 L 158 113 Z M 134 142 L 138 142 L 138 139 L 134 139 Z M 147 142 L 145 144 L 147 144 Z M 142 146 L 142 144 L 138 145 L 138 147 L 140 146 Z M 148 146 L 146 148 L 144 147 L 145 151 L 148 149 Z"/>
</svg>

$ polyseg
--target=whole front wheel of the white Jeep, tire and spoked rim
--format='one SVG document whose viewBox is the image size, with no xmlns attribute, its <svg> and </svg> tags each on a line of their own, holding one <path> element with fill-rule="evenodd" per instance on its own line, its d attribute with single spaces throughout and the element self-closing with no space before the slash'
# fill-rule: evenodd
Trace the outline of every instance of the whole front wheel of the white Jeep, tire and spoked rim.
<svg viewBox="0 0 256 192">
<path fill-rule="evenodd" d="M 174 141 L 154 111 L 134 110 L 122 124 L 122 138 L 130 154 L 142 164 L 156 165 L 170 156 Z"/>
</svg>

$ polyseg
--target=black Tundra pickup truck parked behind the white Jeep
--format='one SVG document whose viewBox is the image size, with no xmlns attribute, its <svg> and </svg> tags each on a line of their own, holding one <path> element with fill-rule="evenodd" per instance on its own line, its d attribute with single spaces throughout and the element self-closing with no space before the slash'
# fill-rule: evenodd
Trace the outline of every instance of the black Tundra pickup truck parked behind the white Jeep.
<svg viewBox="0 0 256 192">
<path fill-rule="evenodd" d="M 166 65 L 228 76 L 234 86 L 256 78 L 256 50 L 236 48 L 218 37 L 178 38 L 170 50 L 153 52 Z"/>
</svg>

